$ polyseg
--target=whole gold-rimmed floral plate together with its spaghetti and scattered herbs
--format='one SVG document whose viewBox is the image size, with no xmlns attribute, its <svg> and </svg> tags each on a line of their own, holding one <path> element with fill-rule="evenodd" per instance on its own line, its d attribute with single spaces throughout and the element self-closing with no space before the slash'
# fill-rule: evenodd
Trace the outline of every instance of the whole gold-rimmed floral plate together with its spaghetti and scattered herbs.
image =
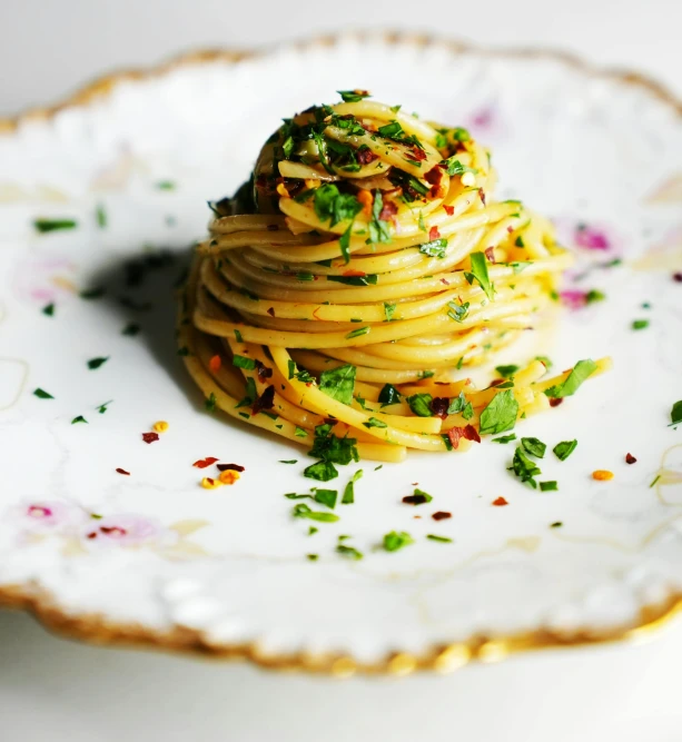
<svg viewBox="0 0 682 742">
<path fill-rule="evenodd" d="M 672 615 L 680 111 L 346 36 L 1 122 L 0 604 L 337 675 Z"/>
</svg>

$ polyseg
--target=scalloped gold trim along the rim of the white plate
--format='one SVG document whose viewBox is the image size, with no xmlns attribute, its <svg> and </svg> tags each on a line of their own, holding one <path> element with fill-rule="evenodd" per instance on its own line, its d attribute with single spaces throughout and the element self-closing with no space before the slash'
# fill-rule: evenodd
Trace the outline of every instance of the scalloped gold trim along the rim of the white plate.
<svg viewBox="0 0 682 742">
<path fill-rule="evenodd" d="M 623 85 L 635 86 L 652 97 L 671 106 L 682 117 L 682 100 L 678 100 L 669 90 L 654 80 L 634 71 L 602 70 L 591 67 L 581 59 L 560 51 L 535 49 L 481 49 L 457 42 L 433 39 L 424 34 L 404 34 L 398 32 L 355 32 L 338 36 L 323 36 L 293 44 L 296 49 L 312 47 L 333 47 L 342 40 L 354 36 L 360 41 L 382 38 L 387 43 L 413 44 L 427 47 L 444 46 L 453 55 L 474 52 L 490 57 L 540 58 L 553 59 L 569 67 L 582 70 L 591 77 L 611 79 Z M 60 111 L 76 107 L 89 106 L 106 98 L 120 82 L 144 80 L 150 77 L 167 75 L 177 67 L 204 65 L 223 61 L 237 63 L 245 59 L 264 56 L 264 51 L 246 50 L 204 50 L 181 55 L 169 62 L 150 70 L 128 70 L 101 77 L 78 90 L 61 102 L 42 108 L 27 110 L 16 117 L 0 118 L 0 135 L 10 135 L 22 123 L 34 120 L 49 120 Z M 100 614 L 66 613 L 49 593 L 34 585 L 0 586 L 0 607 L 17 609 L 31 613 L 48 630 L 71 639 L 79 639 L 91 644 L 111 646 L 147 647 L 166 651 L 189 652 L 207 657 L 221 660 L 247 660 L 269 670 L 296 670 L 347 677 L 355 673 L 368 675 L 407 675 L 414 671 L 435 671 L 447 673 L 457 670 L 473 660 L 496 662 L 510 654 L 540 649 L 559 649 L 589 644 L 604 644 L 617 641 L 640 641 L 650 639 L 662 625 L 682 613 L 682 593 L 675 592 L 665 601 L 655 605 L 643 606 L 637 619 L 629 625 L 607 631 L 582 629 L 572 632 L 560 632 L 548 629 L 505 636 L 472 636 L 463 642 L 434 646 L 423 655 L 407 652 L 395 652 L 376 663 L 362 663 L 345 654 L 267 654 L 257 642 L 248 644 L 211 644 L 199 632 L 176 626 L 168 631 L 155 631 L 140 624 L 119 624 L 107 620 Z"/>
</svg>

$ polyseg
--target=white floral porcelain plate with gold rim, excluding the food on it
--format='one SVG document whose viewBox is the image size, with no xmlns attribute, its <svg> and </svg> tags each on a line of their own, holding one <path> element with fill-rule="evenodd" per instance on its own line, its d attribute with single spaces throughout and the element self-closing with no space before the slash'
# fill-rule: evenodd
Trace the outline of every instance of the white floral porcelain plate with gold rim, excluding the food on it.
<svg viewBox="0 0 682 742">
<path fill-rule="evenodd" d="M 557 492 L 522 485 L 506 469 L 514 444 L 488 439 L 465 455 L 346 467 L 339 488 L 356 468 L 364 476 L 337 523 L 293 518 L 284 494 L 309 488 L 305 451 L 208 414 L 188 380 L 172 286 L 204 234 L 206 200 L 248 176 L 281 117 L 355 87 L 470 127 L 493 150 L 498 197 L 550 215 L 575 248 L 559 327 L 503 358 L 541 354 L 564 368 L 613 357 L 610 374 L 517 425 L 547 444 L 540 478 Z M 682 398 L 682 122 L 654 86 L 546 55 L 348 37 L 115 78 L 6 129 L 4 602 L 83 637 L 336 672 L 447 669 L 624 635 L 672 610 L 682 591 L 682 429 L 668 426 Z M 38 234 L 37 218 L 77 226 Z M 591 290 L 605 299 L 586 303 Z M 139 334 L 122 332 L 130 323 Z M 107 360 L 90 369 L 93 358 Z M 168 431 L 145 443 L 157 421 Z M 573 438 L 560 462 L 552 447 Z M 208 456 L 246 471 L 205 489 L 215 466 L 192 464 Z M 594 469 L 614 477 L 594 481 Z M 402 503 L 415 483 L 433 502 Z M 498 497 L 508 505 L 494 506 Z M 433 520 L 438 511 L 452 517 Z M 377 548 L 391 531 L 415 543 Z M 339 535 L 362 561 L 336 553 Z"/>
</svg>

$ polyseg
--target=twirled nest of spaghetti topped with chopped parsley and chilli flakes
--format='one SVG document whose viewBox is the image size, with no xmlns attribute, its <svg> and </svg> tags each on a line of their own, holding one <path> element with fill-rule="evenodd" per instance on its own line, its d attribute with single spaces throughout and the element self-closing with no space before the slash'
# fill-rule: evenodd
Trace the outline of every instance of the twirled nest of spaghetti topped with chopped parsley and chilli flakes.
<svg viewBox="0 0 682 742">
<path fill-rule="evenodd" d="M 209 409 L 323 461 L 347 441 L 377 461 L 464 451 L 571 386 L 577 366 L 543 382 L 540 360 L 485 389 L 466 378 L 536 325 L 570 255 L 545 218 L 492 200 L 466 130 L 342 97 L 284 119 L 251 179 L 210 205 L 180 353 Z"/>
</svg>

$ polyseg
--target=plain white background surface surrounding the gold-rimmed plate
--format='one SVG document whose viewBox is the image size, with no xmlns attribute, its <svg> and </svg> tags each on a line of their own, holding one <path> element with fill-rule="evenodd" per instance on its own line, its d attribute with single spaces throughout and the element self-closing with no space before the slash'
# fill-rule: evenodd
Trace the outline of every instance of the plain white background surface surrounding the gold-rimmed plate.
<svg viewBox="0 0 682 742">
<path fill-rule="evenodd" d="M 349 27 L 561 48 L 682 95 L 682 0 L 0 0 L 0 115 L 181 50 L 266 47 Z M 448 677 L 335 682 L 85 647 L 8 613 L 0 739 L 680 742 L 681 657 L 678 625 L 644 646 L 544 652 Z"/>
</svg>

